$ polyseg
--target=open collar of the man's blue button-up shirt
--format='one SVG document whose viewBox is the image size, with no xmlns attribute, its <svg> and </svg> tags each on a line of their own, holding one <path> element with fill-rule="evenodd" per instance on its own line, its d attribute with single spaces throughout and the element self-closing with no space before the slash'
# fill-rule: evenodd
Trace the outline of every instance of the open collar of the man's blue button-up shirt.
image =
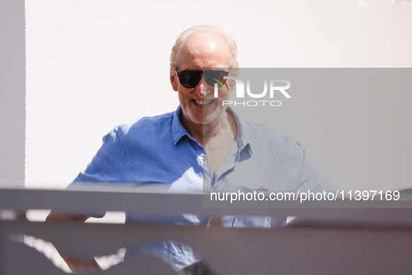
<svg viewBox="0 0 412 275">
<path fill-rule="evenodd" d="M 252 154 L 252 149 L 250 149 L 249 137 L 247 136 L 247 132 L 245 131 L 245 123 L 243 119 L 241 119 L 238 113 L 235 112 L 230 106 L 227 108 L 232 114 L 234 114 L 236 124 L 238 125 L 238 135 L 235 139 L 235 142 L 238 144 L 238 150 L 242 151 L 249 144 L 248 148 L 250 150 L 250 153 Z M 176 112 L 174 112 L 173 115 L 173 121 L 171 121 L 171 135 L 173 137 L 174 146 L 176 146 L 177 142 L 181 140 L 183 136 L 187 135 L 188 137 L 190 137 L 188 131 L 186 131 L 186 129 L 181 124 L 181 109 L 181 105 L 178 105 Z"/>
</svg>

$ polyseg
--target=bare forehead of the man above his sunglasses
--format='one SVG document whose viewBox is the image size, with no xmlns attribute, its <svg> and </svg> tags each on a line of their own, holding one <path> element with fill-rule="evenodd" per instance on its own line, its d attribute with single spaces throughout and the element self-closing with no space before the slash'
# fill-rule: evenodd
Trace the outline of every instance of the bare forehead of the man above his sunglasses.
<svg viewBox="0 0 412 275">
<path fill-rule="evenodd" d="M 229 49 L 224 38 L 214 32 L 190 35 L 178 58 L 180 70 L 229 67 Z"/>
</svg>

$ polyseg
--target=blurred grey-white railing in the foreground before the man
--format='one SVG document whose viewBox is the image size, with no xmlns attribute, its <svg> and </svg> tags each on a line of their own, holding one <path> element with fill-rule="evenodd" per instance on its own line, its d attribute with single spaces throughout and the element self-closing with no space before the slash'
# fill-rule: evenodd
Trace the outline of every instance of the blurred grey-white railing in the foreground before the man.
<svg viewBox="0 0 412 275">
<path fill-rule="evenodd" d="M 398 208 L 206 208 L 199 194 L 160 190 L 0 190 L 0 274 L 66 274 L 36 245 L 53 244 L 78 258 L 173 240 L 201 253 L 215 274 L 412 274 L 412 211 Z M 298 216 L 283 228 L 222 228 L 165 224 L 31 222 L 29 209 Z M 39 253 L 42 252 L 42 253 Z M 119 256 L 121 257 L 121 256 Z M 165 262 L 139 255 L 94 274 L 176 274 Z"/>
</svg>

